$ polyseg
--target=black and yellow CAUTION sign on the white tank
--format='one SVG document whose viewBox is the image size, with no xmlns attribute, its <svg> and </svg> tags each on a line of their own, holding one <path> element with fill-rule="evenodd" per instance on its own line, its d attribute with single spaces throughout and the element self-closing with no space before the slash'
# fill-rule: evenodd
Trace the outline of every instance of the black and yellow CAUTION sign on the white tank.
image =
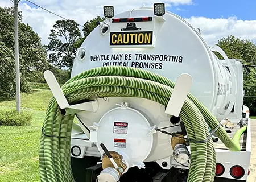
<svg viewBox="0 0 256 182">
<path fill-rule="evenodd" d="M 153 38 L 152 31 L 146 32 L 111 32 L 111 46 L 127 46 L 127 45 L 151 45 Z"/>
</svg>

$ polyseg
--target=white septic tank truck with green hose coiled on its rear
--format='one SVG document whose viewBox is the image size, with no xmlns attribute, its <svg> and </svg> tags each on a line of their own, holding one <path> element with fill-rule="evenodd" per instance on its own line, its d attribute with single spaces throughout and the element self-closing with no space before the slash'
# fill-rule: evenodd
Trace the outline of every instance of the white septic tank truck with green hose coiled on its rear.
<svg viewBox="0 0 256 182">
<path fill-rule="evenodd" d="M 243 65 L 164 3 L 114 14 L 77 49 L 40 140 L 41 181 L 247 181 Z M 222 60 L 214 52 L 220 53 Z"/>
</svg>

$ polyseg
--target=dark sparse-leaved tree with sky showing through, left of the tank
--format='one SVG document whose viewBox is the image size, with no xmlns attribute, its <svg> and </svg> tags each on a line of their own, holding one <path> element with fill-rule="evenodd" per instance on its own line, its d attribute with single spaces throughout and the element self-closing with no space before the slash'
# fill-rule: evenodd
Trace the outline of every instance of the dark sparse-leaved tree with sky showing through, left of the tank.
<svg viewBox="0 0 256 182">
<path fill-rule="evenodd" d="M 81 38 L 79 24 L 74 20 L 58 20 L 53 25 L 49 35 L 48 51 L 54 51 L 49 55 L 49 62 L 57 68 L 73 67 L 75 51 L 73 45 Z"/>
</svg>

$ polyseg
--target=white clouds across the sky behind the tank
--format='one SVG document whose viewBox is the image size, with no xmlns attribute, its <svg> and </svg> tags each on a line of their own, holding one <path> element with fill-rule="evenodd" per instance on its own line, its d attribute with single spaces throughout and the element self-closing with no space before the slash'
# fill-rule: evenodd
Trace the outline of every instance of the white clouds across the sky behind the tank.
<svg viewBox="0 0 256 182">
<path fill-rule="evenodd" d="M 87 20 L 90 20 L 97 15 L 103 13 L 102 7 L 105 5 L 113 5 L 115 7 L 115 13 L 133 9 L 134 7 L 142 7 L 142 5 L 152 6 L 155 2 L 161 2 L 158 0 L 97 0 L 90 1 L 87 0 L 30 0 L 46 9 L 53 11 L 54 13 L 63 16 L 68 19 L 73 19 L 79 24 L 84 24 Z M 30 2 L 22 0 L 19 5 L 19 10 L 23 14 L 23 22 L 29 23 L 38 35 L 42 38 L 42 43 L 48 43 L 48 36 L 53 24 L 56 20 L 61 18 L 48 13 L 34 5 Z M 163 2 L 163 1 L 162 1 Z M 169 9 L 183 10 L 179 9 L 179 5 L 192 5 L 192 0 L 164 0 L 166 6 Z M 123 6 L 125 5 L 125 6 Z M 1 0 L 0 6 L 13 6 L 10 0 Z M 177 7 L 173 7 L 177 6 Z M 244 21 L 238 20 L 236 16 L 230 18 L 219 18 L 210 19 L 205 17 L 194 17 L 186 19 L 193 27 L 201 28 L 203 38 L 208 44 L 217 43 L 217 40 L 233 34 L 235 36 L 241 37 L 243 39 L 252 39 L 256 42 L 256 20 Z"/>
</svg>

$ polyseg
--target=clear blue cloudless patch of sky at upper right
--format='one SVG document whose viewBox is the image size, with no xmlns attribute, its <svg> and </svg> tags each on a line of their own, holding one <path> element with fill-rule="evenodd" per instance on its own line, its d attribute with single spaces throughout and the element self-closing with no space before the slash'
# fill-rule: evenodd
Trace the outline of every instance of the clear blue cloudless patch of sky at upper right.
<svg viewBox="0 0 256 182">
<path fill-rule="evenodd" d="M 181 10 L 173 10 L 183 18 L 204 16 L 207 18 L 228 18 L 237 16 L 242 20 L 256 19 L 256 0 L 194 0 L 194 5 L 179 5 Z"/>
</svg>

